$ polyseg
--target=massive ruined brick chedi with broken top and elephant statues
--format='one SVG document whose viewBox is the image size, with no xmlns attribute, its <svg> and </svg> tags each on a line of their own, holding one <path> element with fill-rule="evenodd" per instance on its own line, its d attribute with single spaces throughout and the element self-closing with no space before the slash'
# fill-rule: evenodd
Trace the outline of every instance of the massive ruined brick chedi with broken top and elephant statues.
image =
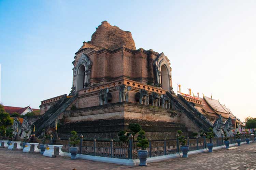
<svg viewBox="0 0 256 170">
<path fill-rule="evenodd" d="M 136 49 L 132 35 L 103 21 L 75 53 L 72 90 L 41 101 L 43 115 L 34 124 L 40 135 L 60 123 L 86 139 L 117 140 L 129 123 L 140 123 L 152 139 L 175 138 L 213 127 L 194 106 L 172 91 L 170 61 L 153 50 Z"/>
</svg>

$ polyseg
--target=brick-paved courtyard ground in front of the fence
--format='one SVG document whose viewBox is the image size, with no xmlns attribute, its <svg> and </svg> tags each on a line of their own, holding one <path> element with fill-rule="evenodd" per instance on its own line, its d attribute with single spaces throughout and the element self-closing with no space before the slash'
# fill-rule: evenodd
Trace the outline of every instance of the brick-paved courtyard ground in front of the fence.
<svg viewBox="0 0 256 170">
<path fill-rule="evenodd" d="M 50 158 L 39 153 L 29 154 L 22 151 L 11 151 L 0 148 L 1 170 L 256 170 L 256 143 L 242 145 L 234 150 L 221 149 L 213 153 L 191 155 L 188 158 L 175 158 L 161 162 L 150 163 L 147 167 L 132 167 L 117 164 L 101 163 L 84 159 L 71 160 L 69 157 Z"/>
</svg>

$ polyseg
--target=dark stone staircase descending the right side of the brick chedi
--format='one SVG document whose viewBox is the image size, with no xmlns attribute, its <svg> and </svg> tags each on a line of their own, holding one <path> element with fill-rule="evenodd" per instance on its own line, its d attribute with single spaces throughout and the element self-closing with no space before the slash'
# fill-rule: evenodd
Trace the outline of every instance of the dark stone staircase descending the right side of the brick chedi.
<svg viewBox="0 0 256 170">
<path fill-rule="evenodd" d="M 187 102 L 182 96 L 174 96 L 169 92 L 166 93 L 172 101 L 172 107 L 179 109 L 185 114 L 191 121 L 193 121 L 203 131 L 209 131 L 209 128 L 213 128 L 212 122 L 210 122 L 204 115 L 202 115 L 192 104 Z"/>
</svg>

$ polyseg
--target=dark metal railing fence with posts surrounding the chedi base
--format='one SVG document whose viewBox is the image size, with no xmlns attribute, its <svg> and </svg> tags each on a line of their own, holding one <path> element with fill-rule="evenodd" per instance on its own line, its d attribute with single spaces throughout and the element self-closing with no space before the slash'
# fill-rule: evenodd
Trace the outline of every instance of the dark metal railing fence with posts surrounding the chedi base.
<svg viewBox="0 0 256 170">
<path fill-rule="evenodd" d="M 229 138 L 229 143 L 236 143 L 236 137 L 231 136 Z M 250 136 L 250 140 L 254 141 L 254 135 Z M 155 157 L 161 155 L 168 155 L 181 152 L 179 140 L 157 140 L 149 141 L 148 147 L 148 156 Z M 241 135 L 241 142 L 245 141 L 245 136 Z M 39 143 L 42 143 L 41 139 L 38 139 Z M 207 143 L 213 142 L 213 146 L 222 146 L 224 145 L 224 137 L 215 137 L 210 139 L 205 138 L 195 138 L 187 139 L 187 145 L 189 146 L 189 151 L 199 150 L 207 148 Z M 45 144 L 49 144 L 50 140 L 46 140 Z M 70 151 L 70 141 L 61 140 L 62 151 Z M 79 152 L 84 155 L 93 155 L 93 156 L 102 156 L 102 157 L 111 157 L 111 158 L 120 158 L 120 159 L 137 159 L 137 151 L 141 148 L 137 147 L 137 142 L 133 141 L 133 138 L 129 139 L 129 142 L 114 142 L 111 141 L 83 141 L 81 139 Z"/>
</svg>

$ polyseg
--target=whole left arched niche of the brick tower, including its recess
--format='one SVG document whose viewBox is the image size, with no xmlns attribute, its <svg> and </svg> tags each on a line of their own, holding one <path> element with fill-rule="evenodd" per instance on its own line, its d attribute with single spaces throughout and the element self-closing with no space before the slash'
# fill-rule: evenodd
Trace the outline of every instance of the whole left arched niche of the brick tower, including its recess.
<svg viewBox="0 0 256 170">
<path fill-rule="evenodd" d="M 90 59 L 84 53 L 82 53 L 81 57 L 79 58 L 79 61 L 73 68 L 73 91 L 79 91 L 90 85 L 91 65 L 92 62 L 90 61 Z M 82 73 L 81 71 L 84 73 Z"/>
</svg>

